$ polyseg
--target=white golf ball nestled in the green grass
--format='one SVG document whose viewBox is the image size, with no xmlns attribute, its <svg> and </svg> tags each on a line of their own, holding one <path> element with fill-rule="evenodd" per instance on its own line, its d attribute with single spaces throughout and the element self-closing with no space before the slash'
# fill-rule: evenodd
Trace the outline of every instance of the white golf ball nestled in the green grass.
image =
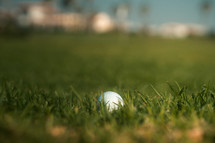
<svg viewBox="0 0 215 143">
<path fill-rule="evenodd" d="M 104 102 L 105 106 L 110 112 L 118 109 L 120 105 L 124 105 L 122 97 L 113 91 L 104 92 L 104 94 L 99 96 L 98 101 L 100 103 Z"/>
</svg>

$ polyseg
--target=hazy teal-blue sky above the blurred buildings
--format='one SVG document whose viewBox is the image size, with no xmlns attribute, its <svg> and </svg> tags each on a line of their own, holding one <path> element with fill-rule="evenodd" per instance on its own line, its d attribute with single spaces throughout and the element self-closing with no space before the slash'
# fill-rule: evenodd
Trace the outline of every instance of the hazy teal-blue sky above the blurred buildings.
<svg viewBox="0 0 215 143">
<path fill-rule="evenodd" d="M 8 5 L 11 1 L 13 5 L 26 0 L 1 0 Z M 41 1 L 41 0 L 27 0 Z M 60 6 L 60 0 L 53 0 Z M 93 7 L 94 11 L 103 11 L 114 17 L 113 8 L 119 4 L 129 4 L 130 11 L 128 14 L 129 21 L 132 23 L 149 23 L 161 25 L 167 22 L 196 23 L 215 29 L 215 0 L 210 0 L 212 9 L 208 13 L 200 12 L 200 4 L 203 0 L 77 0 L 83 7 Z M 88 1 L 88 2 L 86 2 Z M 148 14 L 141 14 L 142 5 L 150 7 Z M 89 9 L 89 8 L 88 8 Z"/>
</svg>

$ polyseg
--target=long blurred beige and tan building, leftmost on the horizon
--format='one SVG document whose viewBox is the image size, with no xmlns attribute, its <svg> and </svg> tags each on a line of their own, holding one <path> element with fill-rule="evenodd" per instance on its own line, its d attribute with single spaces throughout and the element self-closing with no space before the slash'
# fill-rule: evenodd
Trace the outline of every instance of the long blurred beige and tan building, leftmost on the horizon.
<svg viewBox="0 0 215 143">
<path fill-rule="evenodd" d="M 85 17 L 78 13 L 61 13 L 51 2 L 32 2 L 20 5 L 18 23 L 37 28 L 62 28 L 82 30 L 86 26 Z"/>
</svg>

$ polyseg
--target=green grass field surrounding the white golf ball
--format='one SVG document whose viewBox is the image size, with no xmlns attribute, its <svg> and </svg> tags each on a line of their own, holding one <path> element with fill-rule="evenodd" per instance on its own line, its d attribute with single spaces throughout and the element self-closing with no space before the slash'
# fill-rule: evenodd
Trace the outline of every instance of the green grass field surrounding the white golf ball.
<svg viewBox="0 0 215 143">
<path fill-rule="evenodd" d="M 215 41 L 0 38 L 0 142 L 214 142 Z M 125 106 L 98 108 L 104 91 Z"/>
</svg>

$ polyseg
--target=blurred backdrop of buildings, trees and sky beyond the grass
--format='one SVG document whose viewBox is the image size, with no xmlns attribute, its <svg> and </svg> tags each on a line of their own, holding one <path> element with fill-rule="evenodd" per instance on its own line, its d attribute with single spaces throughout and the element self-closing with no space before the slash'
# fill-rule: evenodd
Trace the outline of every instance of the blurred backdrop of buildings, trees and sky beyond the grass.
<svg viewBox="0 0 215 143">
<path fill-rule="evenodd" d="M 0 0 L 0 33 L 30 31 L 213 36 L 215 0 Z"/>
</svg>

